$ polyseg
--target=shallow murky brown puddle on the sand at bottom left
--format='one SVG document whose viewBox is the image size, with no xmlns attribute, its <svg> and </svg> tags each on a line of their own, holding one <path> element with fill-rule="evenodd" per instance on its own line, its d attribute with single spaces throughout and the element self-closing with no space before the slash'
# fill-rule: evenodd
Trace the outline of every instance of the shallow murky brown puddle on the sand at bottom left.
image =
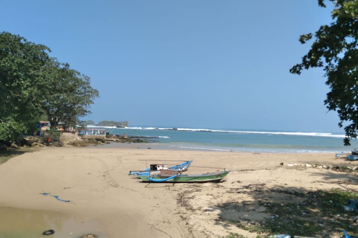
<svg viewBox="0 0 358 238">
<path fill-rule="evenodd" d="M 42 233 L 52 229 L 50 236 Z M 97 219 L 84 220 L 59 212 L 0 207 L 0 238 L 80 238 L 83 234 L 108 238 Z"/>
</svg>

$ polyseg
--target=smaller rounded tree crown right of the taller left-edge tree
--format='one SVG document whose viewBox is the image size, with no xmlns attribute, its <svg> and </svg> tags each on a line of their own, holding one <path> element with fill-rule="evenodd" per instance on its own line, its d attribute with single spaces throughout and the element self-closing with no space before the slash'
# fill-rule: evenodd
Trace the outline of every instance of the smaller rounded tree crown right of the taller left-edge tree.
<svg viewBox="0 0 358 238">
<path fill-rule="evenodd" d="M 47 86 L 43 89 L 46 97 L 41 107 L 54 128 L 58 122 L 76 125 L 78 117 L 86 116 L 89 105 L 99 96 L 90 85 L 89 77 L 50 59 L 46 67 Z"/>
</svg>

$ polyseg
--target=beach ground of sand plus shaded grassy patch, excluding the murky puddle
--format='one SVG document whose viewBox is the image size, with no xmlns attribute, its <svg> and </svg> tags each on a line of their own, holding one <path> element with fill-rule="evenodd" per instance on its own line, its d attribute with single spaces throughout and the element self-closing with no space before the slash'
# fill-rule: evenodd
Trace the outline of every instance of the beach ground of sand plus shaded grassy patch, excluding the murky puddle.
<svg viewBox="0 0 358 238">
<path fill-rule="evenodd" d="M 140 159 L 194 159 L 189 174 L 232 171 L 220 183 L 147 184 L 127 175 L 146 167 Z M 124 237 L 339 238 L 343 229 L 357 235 L 358 211 L 345 209 L 358 199 L 357 166 L 333 153 L 51 147 L 0 165 L 0 204 L 68 214 L 78 227 L 96 219 L 99 238 L 118 237 L 118 229 Z M 63 232 L 50 223 L 39 229 Z"/>
</svg>

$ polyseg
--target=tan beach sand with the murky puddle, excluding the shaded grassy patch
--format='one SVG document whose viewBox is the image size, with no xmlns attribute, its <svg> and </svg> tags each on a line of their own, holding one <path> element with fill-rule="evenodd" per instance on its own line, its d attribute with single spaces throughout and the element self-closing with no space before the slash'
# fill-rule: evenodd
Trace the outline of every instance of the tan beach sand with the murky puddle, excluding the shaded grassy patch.
<svg viewBox="0 0 358 238">
<path fill-rule="evenodd" d="M 146 168 L 146 162 L 139 159 L 194 159 L 186 173 L 215 172 L 220 170 L 217 168 L 231 172 L 220 183 L 147 184 L 128 176 L 130 170 Z M 334 183 L 356 181 L 354 173 L 289 167 L 288 163 L 358 164 L 318 153 L 106 147 L 44 148 L 24 153 L 0 164 L 0 237 L 39 237 L 45 230 L 54 229 L 54 238 L 78 238 L 86 233 L 96 233 L 100 238 L 225 237 L 229 233 L 255 238 L 257 232 L 228 221 L 260 222 L 268 216 L 263 203 L 302 202 L 295 193 L 358 190 L 357 184 Z"/>
</svg>

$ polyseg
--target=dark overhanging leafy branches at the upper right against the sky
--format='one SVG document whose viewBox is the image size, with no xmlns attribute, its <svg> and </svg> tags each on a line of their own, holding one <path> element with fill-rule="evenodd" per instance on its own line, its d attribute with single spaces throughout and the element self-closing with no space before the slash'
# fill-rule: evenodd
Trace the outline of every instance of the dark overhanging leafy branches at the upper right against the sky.
<svg viewBox="0 0 358 238">
<path fill-rule="evenodd" d="M 339 127 L 344 127 L 344 145 L 358 132 L 358 0 L 329 0 L 335 5 L 330 25 L 315 32 L 314 42 L 302 62 L 290 69 L 301 74 L 303 69 L 323 67 L 330 92 L 324 101 L 328 110 L 338 112 Z M 324 0 L 318 0 L 325 7 Z M 311 33 L 301 35 L 302 44 L 311 40 Z"/>
</svg>

